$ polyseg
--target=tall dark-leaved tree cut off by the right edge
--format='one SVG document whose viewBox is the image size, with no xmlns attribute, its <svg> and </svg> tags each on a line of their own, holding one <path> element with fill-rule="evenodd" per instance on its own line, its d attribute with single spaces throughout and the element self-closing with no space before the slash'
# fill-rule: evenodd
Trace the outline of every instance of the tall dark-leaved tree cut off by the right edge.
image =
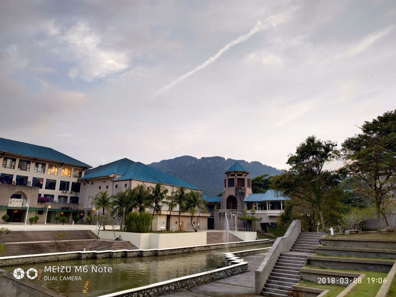
<svg viewBox="0 0 396 297">
<path fill-rule="evenodd" d="M 364 122 L 361 133 L 342 144 L 346 170 L 372 190 L 377 217 L 389 192 L 396 190 L 396 110 L 385 112 L 371 122 Z M 381 232 L 381 220 L 377 219 Z"/>
</svg>

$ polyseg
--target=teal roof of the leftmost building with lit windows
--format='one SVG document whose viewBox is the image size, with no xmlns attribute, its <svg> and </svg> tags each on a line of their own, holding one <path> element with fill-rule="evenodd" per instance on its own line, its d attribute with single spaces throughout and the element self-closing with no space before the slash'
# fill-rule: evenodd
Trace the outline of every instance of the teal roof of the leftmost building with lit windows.
<svg viewBox="0 0 396 297">
<path fill-rule="evenodd" d="M 52 148 L 41 147 L 40 145 L 32 145 L 30 143 L 24 143 L 11 139 L 0 138 L 0 152 L 91 168 L 91 166 L 88 164 L 80 162 Z"/>
</svg>

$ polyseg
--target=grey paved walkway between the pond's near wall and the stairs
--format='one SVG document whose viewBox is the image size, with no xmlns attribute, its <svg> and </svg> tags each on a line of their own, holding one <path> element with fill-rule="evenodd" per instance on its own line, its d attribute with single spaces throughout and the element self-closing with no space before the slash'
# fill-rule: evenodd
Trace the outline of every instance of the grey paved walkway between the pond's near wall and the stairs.
<svg viewBox="0 0 396 297">
<path fill-rule="evenodd" d="M 245 261 L 249 262 L 247 272 L 230 276 L 203 284 L 200 286 L 192 287 L 177 293 L 171 293 L 166 296 L 170 297 L 252 297 L 255 295 L 255 280 L 254 272 L 259 268 L 267 253 L 257 254 L 242 257 Z"/>
</svg>

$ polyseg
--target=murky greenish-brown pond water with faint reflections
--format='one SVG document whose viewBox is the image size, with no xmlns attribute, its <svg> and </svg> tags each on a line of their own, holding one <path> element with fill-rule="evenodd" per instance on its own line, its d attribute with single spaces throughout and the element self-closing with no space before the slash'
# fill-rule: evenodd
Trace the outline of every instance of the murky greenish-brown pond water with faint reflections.
<svg viewBox="0 0 396 297">
<path fill-rule="evenodd" d="M 228 251 L 242 251 L 272 244 L 228 248 Z M 32 282 L 69 297 L 93 297 L 116 291 L 146 286 L 172 278 L 204 272 L 217 268 L 223 262 L 226 249 L 200 251 L 161 257 L 135 257 L 117 259 L 91 259 L 31 264 L 19 266 L 23 270 L 34 267 L 38 277 Z M 49 272 L 49 267 L 70 266 L 70 273 Z M 81 271 L 80 271 L 81 266 Z M 84 267 L 86 272 L 84 272 Z M 3 269 L 13 272 L 17 267 Z M 92 272 L 112 269 L 111 272 Z M 69 267 L 68 267 L 69 270 Z M 64 268 L 65 271 L 65 268 Z"/>
</svg>

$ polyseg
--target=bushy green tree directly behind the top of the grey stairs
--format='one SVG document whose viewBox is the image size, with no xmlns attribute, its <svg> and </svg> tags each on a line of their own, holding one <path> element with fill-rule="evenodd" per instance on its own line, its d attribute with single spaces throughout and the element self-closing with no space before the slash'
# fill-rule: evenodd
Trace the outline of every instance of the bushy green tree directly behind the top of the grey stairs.
<svg viewBox="0 0 396 297">
<path fill-rule="evenodd" d="M 337 144 L 309 136 L 295 154 L 289 154 L 286 164 L 290 170 L 272 179 L 272 188 L 283 196 L 295 197 L 313 204 L 319 212 L 322 230 L 326 230 L 323 204 L 336 206 L 342 196 L 341 176 L 336 171 L 324 170 L 326 162 L 339 156 Z"/>
</svg>

